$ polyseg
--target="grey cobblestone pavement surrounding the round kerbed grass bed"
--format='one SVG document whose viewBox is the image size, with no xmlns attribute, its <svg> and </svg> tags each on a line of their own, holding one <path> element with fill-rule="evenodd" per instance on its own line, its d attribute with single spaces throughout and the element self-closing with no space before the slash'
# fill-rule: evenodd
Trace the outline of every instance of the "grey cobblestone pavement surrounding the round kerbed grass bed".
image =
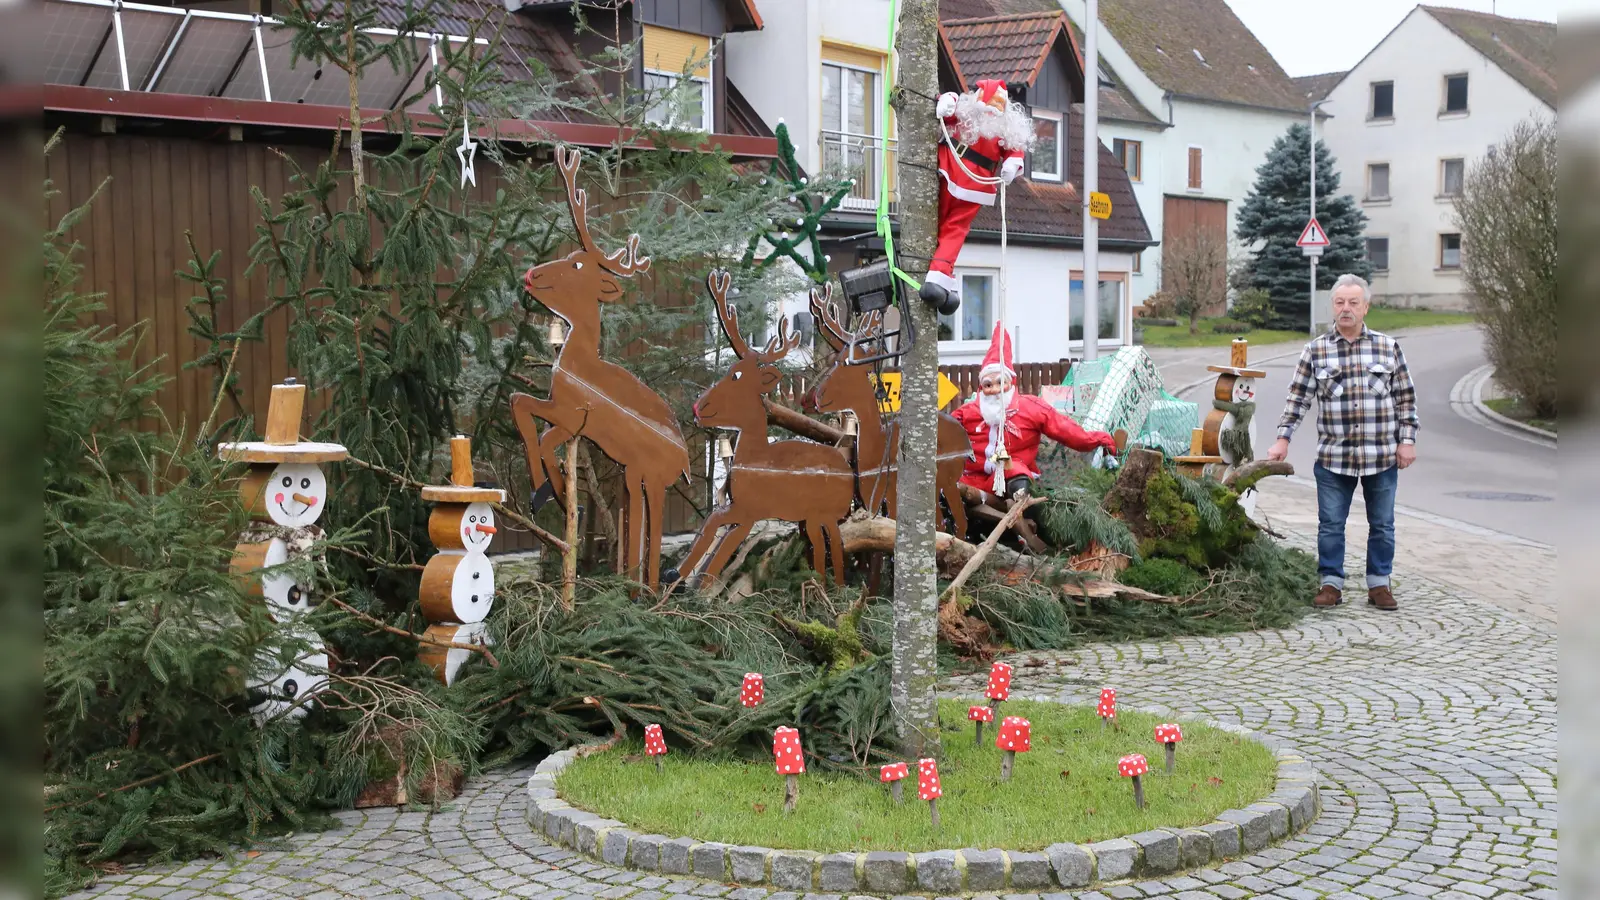
<svg viewBox="0 0 1600 900">
<path fill-rule="evenodd" d="M 1362 570 L 1360 546 L 1352 543 L 1352 572 Z M 1299 839 L 1072 897 L 1555 898 L 1554 625 L 1414 573 L 1397 573 L 1395 588 L 1398 613 L 1368 609 L 1357 591 L 1296 628 L 1102 644 L 1062 653 L 1072 660 L 1062 668 L 1019 666 L 1019 697 L 1090 703 L 1112 684 L 1134 706 L 1286 740 L 1323 777 L 1325 810 Z M 618 871 L 550 847 L 523 820 L 528 775 L 477 778 L 440 812 L 349 812 L 344 828 L 285 849 L 130 871 L 82 897 L 802 900 Z"/>
</svg>

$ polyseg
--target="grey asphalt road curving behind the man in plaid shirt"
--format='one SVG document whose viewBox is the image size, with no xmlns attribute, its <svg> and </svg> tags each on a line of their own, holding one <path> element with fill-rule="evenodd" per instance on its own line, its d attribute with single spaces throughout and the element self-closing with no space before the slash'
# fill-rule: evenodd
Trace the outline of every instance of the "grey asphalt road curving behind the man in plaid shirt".
<svg viewBox="0 0 1600 900">
<path fill-rule="evenodd" d="M 1416 464 L 1400 472 L 1397 503 L 1554 546 L 1563 527 L 1557 514 L 1562 488 L 1555 476 L 1555 448 L 1491 431 L 1451 408 L 1450 391 L 1456 381 L 1486 362 L 1478 330 L 1472 325 L 1421 328 L 1402 335 L 1400 346 L 1416 383 L 1421 431 Z M 1261 447 L 1256 452 L 1262 456 L 1274 440 L 1299 357 L 1298 351 L 1283 348 L 1290 356 L 1267 359 L 1277 356 L 1270 352 L 1277 349 L 1262 348 L 1259 360 L 1251 360 L 1267 373 L 1258 384 Z M 1184 399 L 1206 402 L 1208 389 L 1189 391 Z M 1296 477 L 1307 480 L 1317 450 L 1315 413 L 1314 405 L 1290 444 Z"/>
</svg>

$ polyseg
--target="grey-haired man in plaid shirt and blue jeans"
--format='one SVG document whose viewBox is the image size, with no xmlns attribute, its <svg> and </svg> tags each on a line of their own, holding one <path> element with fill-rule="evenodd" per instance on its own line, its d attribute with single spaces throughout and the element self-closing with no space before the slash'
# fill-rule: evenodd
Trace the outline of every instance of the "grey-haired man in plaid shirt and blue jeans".
<svg viewBox="0 0 1600 900">
<path fill-rule="evenodd" d="M 1371 288 L 1358 275 L 1333 283 L 1333 328 L 1306 344 L 1269 460 L 1317 399 L 1317 573 L 1320 609 L 1344 602 L 1344 522 L 1362 485 L 1366 501 L 1366 602 L 1397 609 L 1389 589 L 1395 559 L 1395 485 L 1416 461 L 1416 389 L 1400 343 L 1365 325 Z"/>
</svg>

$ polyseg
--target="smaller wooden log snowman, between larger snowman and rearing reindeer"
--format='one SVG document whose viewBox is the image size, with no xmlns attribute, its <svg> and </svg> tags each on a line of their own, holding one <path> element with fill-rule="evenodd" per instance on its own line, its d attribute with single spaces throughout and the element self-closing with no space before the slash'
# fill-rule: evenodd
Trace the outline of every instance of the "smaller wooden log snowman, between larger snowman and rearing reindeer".
<svg viewBox="0 0 1600 900">
<path fill-rule="evenodd" d="M 437 503 L 427 517 L 427 536 L 438 548 L 422 569 L 422 617 L 429 621 L 424 634 L 434 641 L 486 645 L 483 620 L 494 604 L 494 565 L 486 554 L 494 540 L 491 504 L 504 503 L 506 492 L 474 484 L 472 440 L 461 434 L 450 440 L 450 482 L 422 488 L 422 500 Z M 418 655 L 450 685 L 472 652 L 422 644 Z"/>
</svg>

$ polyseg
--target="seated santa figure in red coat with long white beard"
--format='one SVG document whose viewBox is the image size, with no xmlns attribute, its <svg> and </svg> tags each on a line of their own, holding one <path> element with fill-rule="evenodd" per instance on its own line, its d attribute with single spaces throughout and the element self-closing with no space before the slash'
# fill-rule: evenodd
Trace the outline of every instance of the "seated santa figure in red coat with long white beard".
<svg viewBox="0 0 1600 900">
<path fill-rule="evenodd" d="M 962 480 L 978 490 L 1008 498 L 1038 477 L 1038 439 L 1088 452 L 1104 447 L 1117 452 L 1117 440 L 1104 431 L 1085 431 L 1072 418 L 1034 397 L 1016 392 L 1011 368 L 1011 335 L 995 322 L 989 354 L 978 372 L 978 399 L 955 410 L 955 420 L 973 442 Z"/>
</svg>

